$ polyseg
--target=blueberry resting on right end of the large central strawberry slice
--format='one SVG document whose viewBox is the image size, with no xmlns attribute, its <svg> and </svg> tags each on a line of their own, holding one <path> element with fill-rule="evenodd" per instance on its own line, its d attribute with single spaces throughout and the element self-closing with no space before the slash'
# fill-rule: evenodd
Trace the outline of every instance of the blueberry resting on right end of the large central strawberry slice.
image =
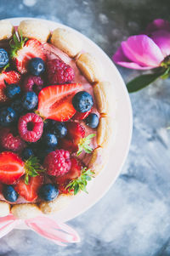
<svg viewBox="0 0 170 256">
<path fill-rule="evenodd" d="M 84 113 L 91 110 L 94 105 L 94 100 L 92 95 L 88 94 L 88 92 L 82 91 L 75 94 L 72 99 L 72 104 L 78 112 Z"/>
</svg>

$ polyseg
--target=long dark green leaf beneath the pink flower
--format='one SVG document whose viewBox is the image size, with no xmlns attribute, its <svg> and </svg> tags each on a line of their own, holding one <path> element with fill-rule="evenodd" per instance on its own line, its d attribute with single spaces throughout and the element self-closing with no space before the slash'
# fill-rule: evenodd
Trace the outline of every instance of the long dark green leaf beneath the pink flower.
<svg viewBox="0 0 170 256">
<path fill-rule="evenodd" d="M 147 75 L 142 75 L 142 76 L 136 77 L 132 81 L 127 82 L 127 91 L 129 93 L 137 92 L 140 89 L 148 86 L 151 82 L 156 81 L 157 78 L 167 75 L 167 72 L 169 72 L 169 71 L 163 70 L 163 71 L 160 71 L 157 73 L 147 74 Z"/>
</svg>

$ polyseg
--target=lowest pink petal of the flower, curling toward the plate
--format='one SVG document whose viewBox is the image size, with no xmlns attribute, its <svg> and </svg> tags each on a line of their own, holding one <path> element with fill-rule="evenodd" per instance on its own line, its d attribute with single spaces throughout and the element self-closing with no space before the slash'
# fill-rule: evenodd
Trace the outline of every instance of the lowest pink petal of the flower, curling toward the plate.
<svg viewBox="0 0 170 256">
<path fill-rule="evenodd" d="M 137 63 L 130 62 L 130 60 L 128 60 L 127 57 L 123 54 L 122 47 L 117 49 L 116 54 L 114 54 L 112 57 L 112 60 L 118 65 L 122 65 L 124 67 L 132 68 L 135 70 L 148 70 L 152 68 L 150 66 L 141 66 Z"/>
</svg>

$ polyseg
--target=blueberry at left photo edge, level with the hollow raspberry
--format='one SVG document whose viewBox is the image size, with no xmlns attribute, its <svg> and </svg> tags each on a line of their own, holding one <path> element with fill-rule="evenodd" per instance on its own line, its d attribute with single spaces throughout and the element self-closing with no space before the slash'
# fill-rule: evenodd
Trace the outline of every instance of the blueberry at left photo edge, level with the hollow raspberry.
<svg viewBox="0 0 170 256">
<path fill-rule="evenodd" d="M 17 114 L 13 108 L 4 106 L 0 109 L 0 126 L 10 126 L 17 119 Z"/>
</svg>

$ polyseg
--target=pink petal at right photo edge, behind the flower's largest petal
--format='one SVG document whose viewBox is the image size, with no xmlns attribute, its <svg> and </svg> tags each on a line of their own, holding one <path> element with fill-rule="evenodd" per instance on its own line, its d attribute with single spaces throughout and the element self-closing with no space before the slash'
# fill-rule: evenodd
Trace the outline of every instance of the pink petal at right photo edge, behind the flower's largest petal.
<svg viewBox="0 0 170 256">
<path fill-rule="evenodd" d="M 170 54 L 170 31 L 155 31 L 151 38 L 161 49 L 164 57 Z"/>
</svg>

